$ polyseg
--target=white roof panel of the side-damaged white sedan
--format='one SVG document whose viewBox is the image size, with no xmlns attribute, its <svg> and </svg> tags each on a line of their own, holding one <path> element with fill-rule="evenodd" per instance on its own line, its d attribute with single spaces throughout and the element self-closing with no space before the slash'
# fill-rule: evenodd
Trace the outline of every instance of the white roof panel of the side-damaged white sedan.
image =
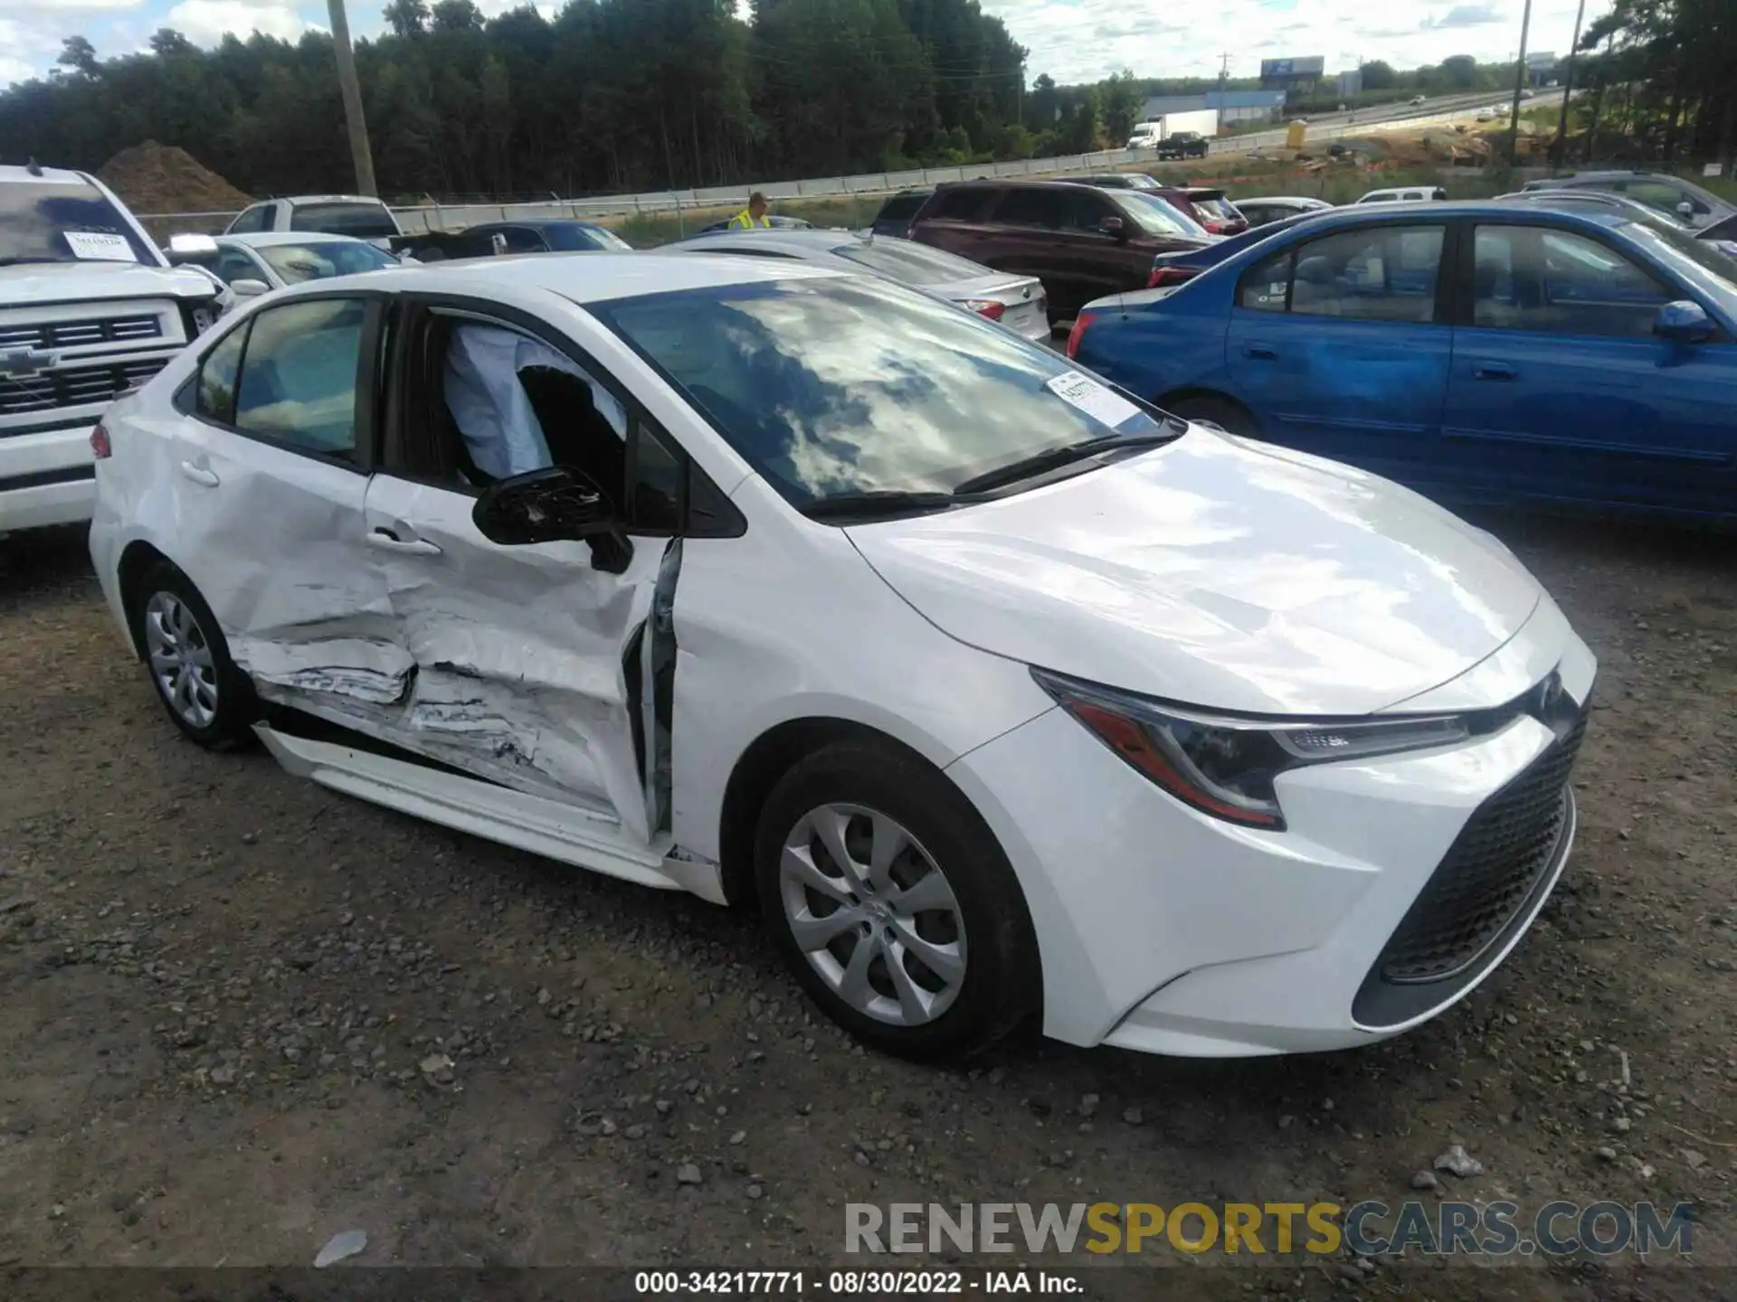
<svg viewBox="0 0 1737 1302">
<path fill-rule="evenodd" d="M 771 279 L 806 279 L 846 273 L 780 259 L 728 253 L 589 252 L 502 253 L 499 257 L 420 262 L 415 267 L 370 271 L 361 276 L 309 281 L 318 290 L 334 285 L 368 285 L 424 293 L 486 293 L 490 286 L 547 290 L 570 302 L 606 302 L 639 293 L 705 290 L 721 285 L 757 285 Z M 290 293 L 304 286 L 295 286 Z"/>
</svg>

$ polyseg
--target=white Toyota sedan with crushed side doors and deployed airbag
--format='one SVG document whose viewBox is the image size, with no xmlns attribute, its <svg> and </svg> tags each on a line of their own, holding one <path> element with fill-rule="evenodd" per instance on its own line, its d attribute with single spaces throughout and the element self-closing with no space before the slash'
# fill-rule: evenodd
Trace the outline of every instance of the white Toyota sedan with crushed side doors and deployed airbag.
<svg viewBox="0 0 1737 1302">
<path fill-rule="evenodd" d="M 717 903 L 914 1057 L 1362 1045 L 1518 944 L 1595 661 L 1490 535 L 879 278 L 247 304 L 92 436 L 200 745 Z"/>
</svg>

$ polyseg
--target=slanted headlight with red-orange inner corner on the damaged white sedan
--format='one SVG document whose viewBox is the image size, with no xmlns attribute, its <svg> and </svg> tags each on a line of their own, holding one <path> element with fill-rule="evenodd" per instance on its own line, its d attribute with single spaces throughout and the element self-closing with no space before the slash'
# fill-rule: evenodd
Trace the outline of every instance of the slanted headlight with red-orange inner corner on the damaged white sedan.
<svg viewBox="0 0 1737 1302">
<path fill-rule="evenodd" d="M 1393 755 L 1464 741 L 1459 715 L 1393 719 L 1237 719 L 1157 705 L 1141 696 L 1032 668 L 1037 686 L 1131 767 L 1202 814 L 1284 832 L 1273 779 L 1310 764 Z"/>
</svg>

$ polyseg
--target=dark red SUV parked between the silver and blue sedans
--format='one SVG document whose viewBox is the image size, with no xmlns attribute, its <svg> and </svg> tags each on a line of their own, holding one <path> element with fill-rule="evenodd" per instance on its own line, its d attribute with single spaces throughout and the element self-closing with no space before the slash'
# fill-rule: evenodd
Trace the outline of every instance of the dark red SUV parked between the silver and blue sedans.
<svg viewBox="0 0 1737 1302">
<path fill-rule="evenodd" d="M 1067 181 L 938 186 L 912 219 L 910 238 L 995 271 L 1037 276 L 1053 319 L 1068 319 L 1106 293 L 1143 290 L 1155 255 L 1209 241 L 1164 200 Z"/>
</svg>

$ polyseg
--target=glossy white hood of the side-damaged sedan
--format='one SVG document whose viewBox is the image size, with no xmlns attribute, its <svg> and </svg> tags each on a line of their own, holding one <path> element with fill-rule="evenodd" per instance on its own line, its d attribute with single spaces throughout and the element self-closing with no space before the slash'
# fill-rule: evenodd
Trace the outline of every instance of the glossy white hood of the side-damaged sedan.
<svg viewBox="0 0 1737 1302">
<path fill-rule="evenodd" d="M 1046 488 L 848 533 L 962 642 L 1251 713 L 1403 701 L 1487 658 L 1542 592 L 1405 488 L 1199 427 Z"/>
</svg>

